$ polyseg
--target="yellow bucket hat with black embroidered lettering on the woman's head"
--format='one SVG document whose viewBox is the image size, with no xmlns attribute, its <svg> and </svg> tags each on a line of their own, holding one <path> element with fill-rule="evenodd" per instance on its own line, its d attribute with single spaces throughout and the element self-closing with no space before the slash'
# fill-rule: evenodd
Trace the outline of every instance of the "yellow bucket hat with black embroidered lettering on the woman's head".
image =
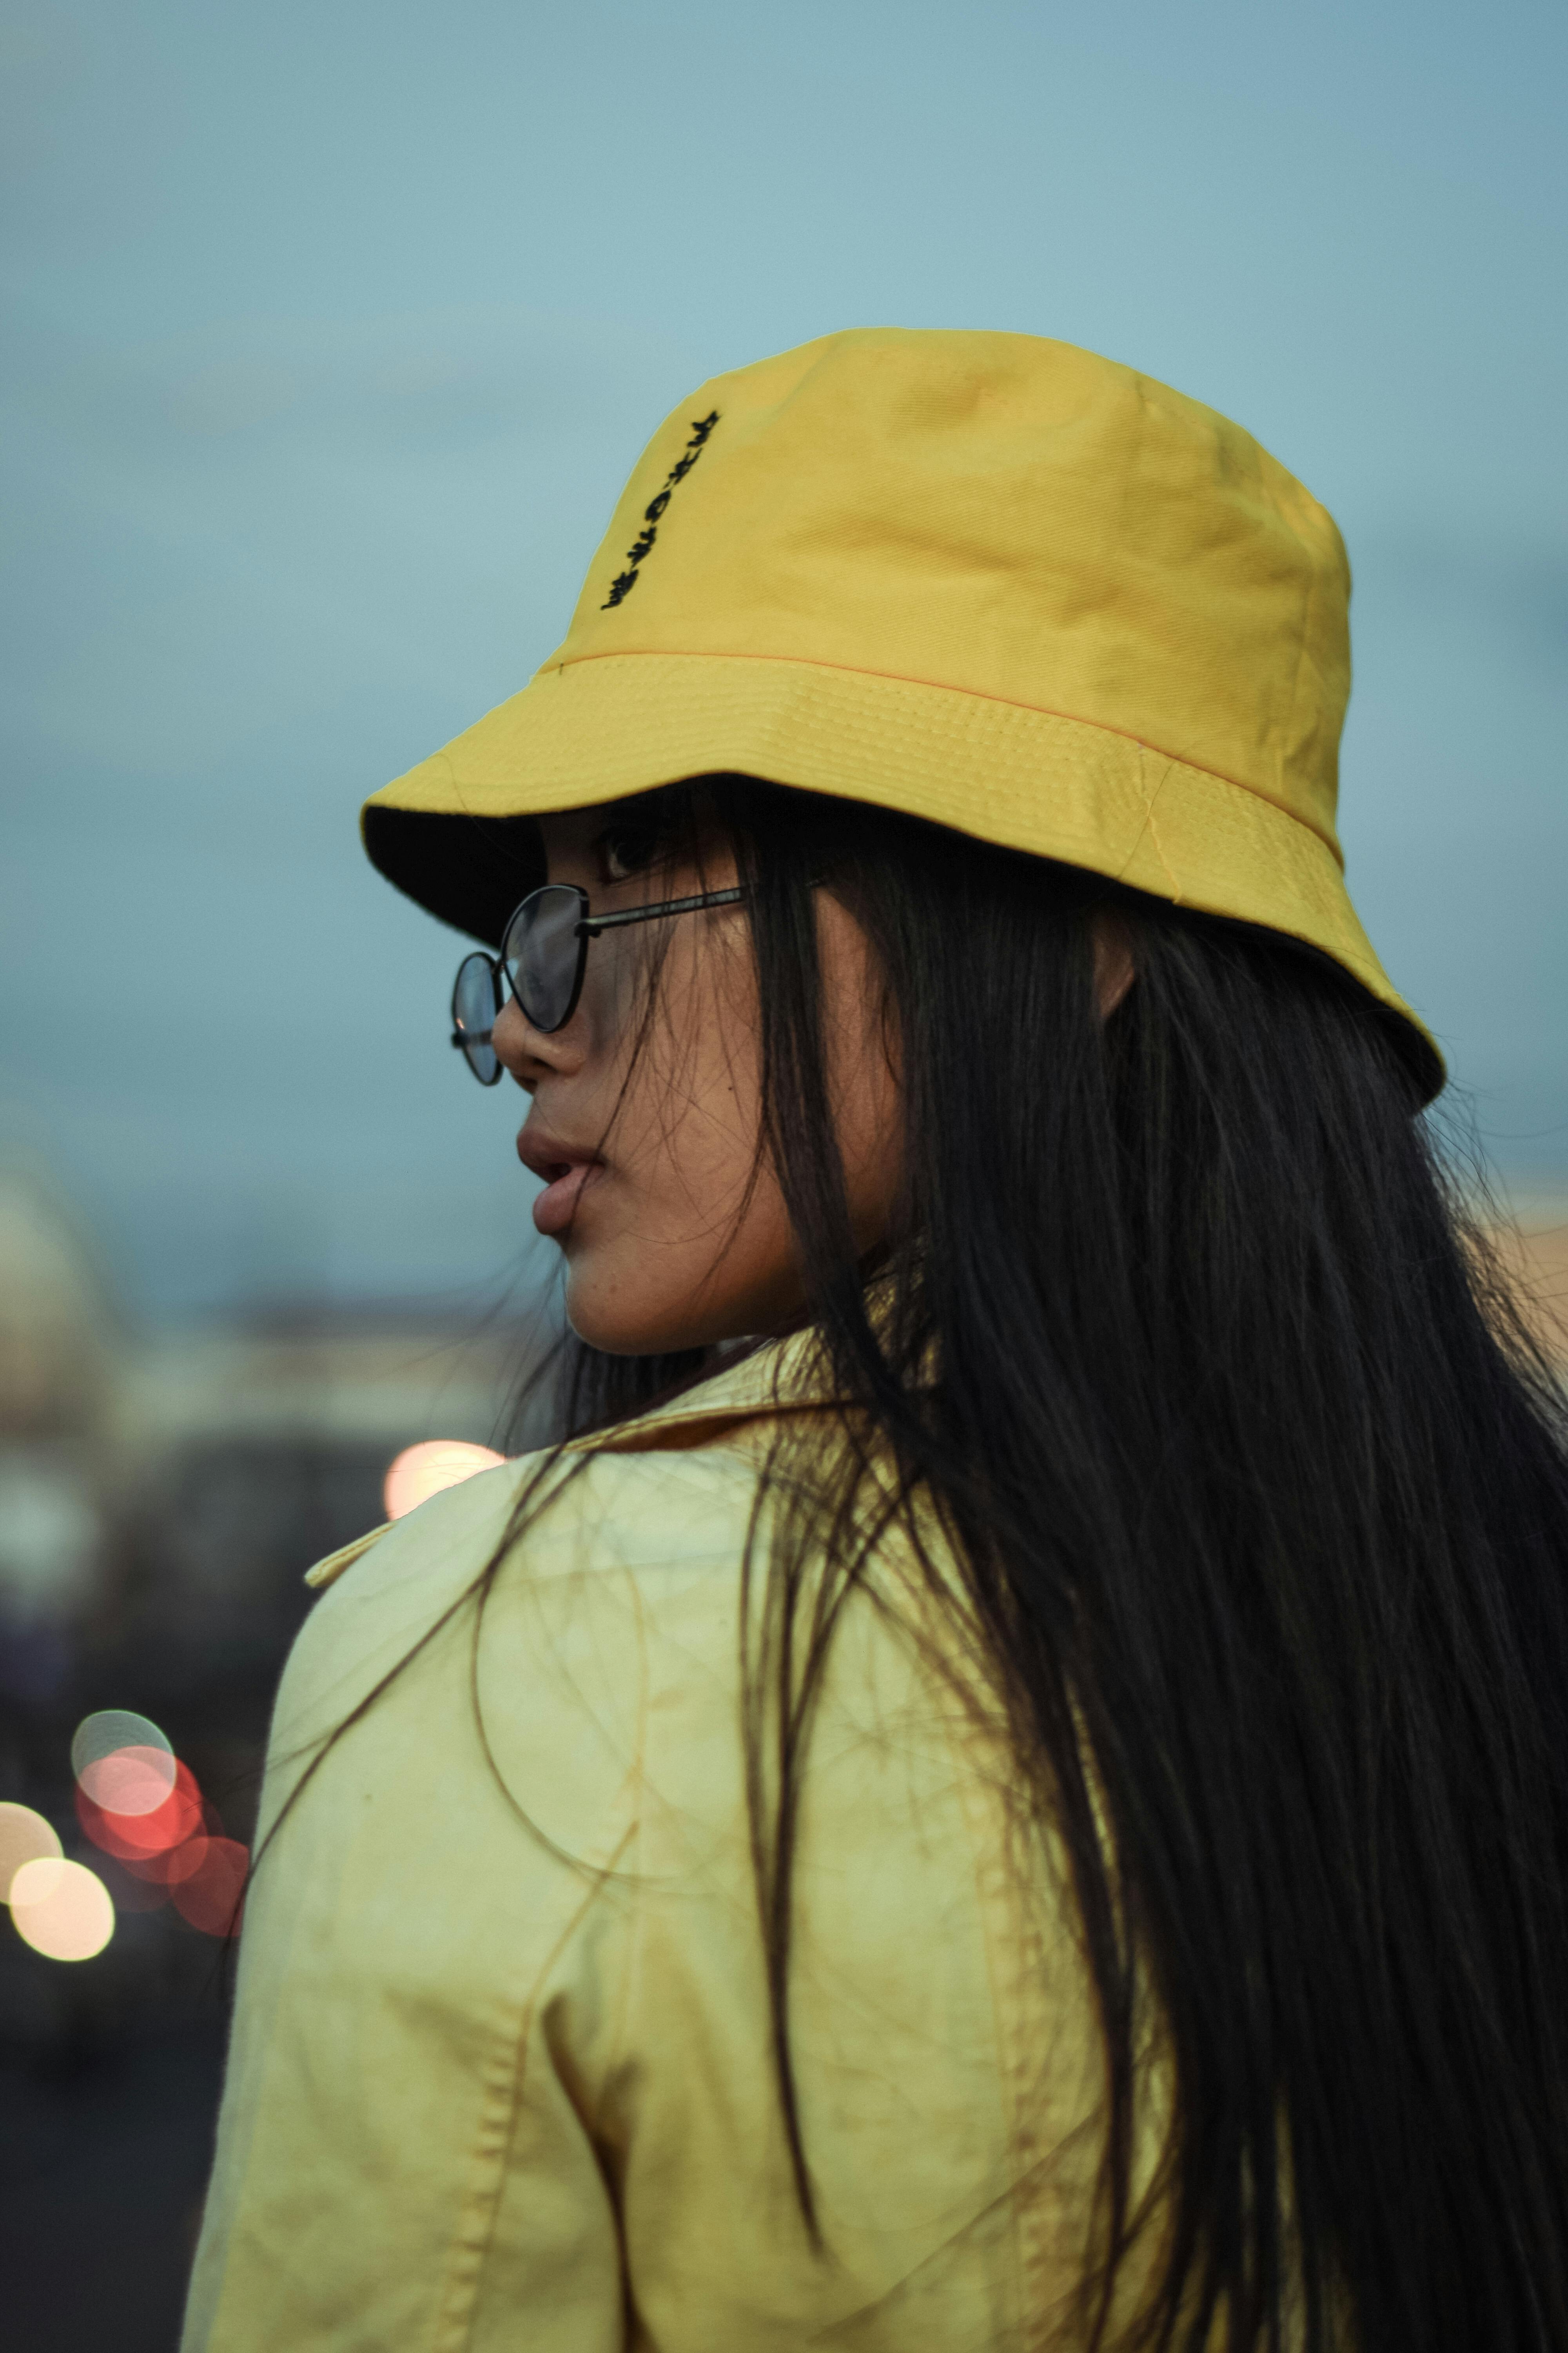
<svg viewBox="0 0 1568 2353">
<path fill-rule="evenodd" d="M 1032 334 L 865 327 L 715 376 L 644 449 L 567 640 L 364 805 L 498 944 L 531 824 L 743 772 L 907 809 L 1333 958 L 1441 1056 L 1335 835 L 1349 565 L 1213 409 Z"/>
</svg>

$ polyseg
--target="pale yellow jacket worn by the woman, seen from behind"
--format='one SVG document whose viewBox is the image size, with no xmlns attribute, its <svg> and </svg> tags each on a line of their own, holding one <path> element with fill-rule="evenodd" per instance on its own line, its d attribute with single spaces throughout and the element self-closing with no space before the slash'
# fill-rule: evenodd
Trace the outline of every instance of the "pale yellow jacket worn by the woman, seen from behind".
<svg viewBox="0 0 1568 2353">
<path fill-rule="evenodd" d="M 437 1631 L 259 1864 L 186 2353 L 1079 2341 L 1103 2073 L 1072 1904 L 994 1708 L 870 1600 L 832 1649 L 795 1864 L 823 2252 L 795 2202 L 738 1565 L 759 1447 L 811 1398 L 797 1339 L 581 1442 L 477 1642 L 473 1602 L 447 1612 L 536 1461 L 313 1572 L 263 1828 Z"/>
</svg>

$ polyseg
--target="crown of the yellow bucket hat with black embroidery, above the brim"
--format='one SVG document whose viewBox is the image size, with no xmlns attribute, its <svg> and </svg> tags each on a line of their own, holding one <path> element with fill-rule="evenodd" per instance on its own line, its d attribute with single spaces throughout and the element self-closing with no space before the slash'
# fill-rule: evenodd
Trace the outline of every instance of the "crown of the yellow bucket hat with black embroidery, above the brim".
<svg viewBox="0 0 1568 2353">
<path fill-rule="evenodd" d="M 1133 736 L 1338 856 L 1349 567 L 1241 426 L 1072 344 L 872 327 L 644 449 L 545 668 L 809 661 Z"/>
</svg>

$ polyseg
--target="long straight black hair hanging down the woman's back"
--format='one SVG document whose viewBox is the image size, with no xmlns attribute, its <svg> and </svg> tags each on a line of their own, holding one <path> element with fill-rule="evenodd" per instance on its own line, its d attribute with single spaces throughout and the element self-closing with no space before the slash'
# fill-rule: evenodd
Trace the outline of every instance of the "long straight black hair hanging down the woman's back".
<svg viewBox="0 0 1568 2353">
<path fill-rule="evenodd" d="M 741 776 L 696 798 L 752 885 L 759 1148 L 846 1400 L 844 1475 L 816 1520 L 783 1515 L 748 1612 L 806 2217 L 790 1868 L 837 1607 L 872 1574 L 851 1489 L 879 1449 L 947 1529 L 1020 1781 L 1070 1857 L 1107 2082 L 1091 2334 L 1135 2235 L 1152 1984 L 1175 2104 L 1145 2341 L 1568 2346 L 1561 1395 L 1408 1042 L 1272 934 L 884 809 Z M 696 798 L 661 795 L 672 833 L 696 840 Z M 875 1313 L 813 887 L 870 936 L 903 1078 Z M 1107 906 L 1135 984 L 1100 1019 Z M 581 1351 L 569 1419 L 693 1369 Z"/>
</svg>

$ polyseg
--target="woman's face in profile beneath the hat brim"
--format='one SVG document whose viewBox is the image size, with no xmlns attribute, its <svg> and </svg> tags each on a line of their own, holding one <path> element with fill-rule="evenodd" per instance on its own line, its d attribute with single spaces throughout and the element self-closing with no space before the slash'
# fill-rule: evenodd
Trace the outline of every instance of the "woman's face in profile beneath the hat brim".
<svg viewBox="0 0 1568 2353">
<path fill-rule="evenodd" d="M 592 913 L 736 880 L 722 845 L 672 859 L 639 805 L 541 821 L 552 882 Z M 900 1104 L 865 934 L 816 892 L 827 1085 L 856 1242 L 889 1235 Z M 778 1332 L 804 1289 L 778 1184 L 757 1153 L 757 976 L 743 906 L 590 941 L 571 1021 L 545 1035 L 508 998 L 496 1054 L 529 1094 L 517 1155 L 545 1191 L 534 1224 L 567 1261 L 567 1315 L 611 1355 Z"/>
</svg>

